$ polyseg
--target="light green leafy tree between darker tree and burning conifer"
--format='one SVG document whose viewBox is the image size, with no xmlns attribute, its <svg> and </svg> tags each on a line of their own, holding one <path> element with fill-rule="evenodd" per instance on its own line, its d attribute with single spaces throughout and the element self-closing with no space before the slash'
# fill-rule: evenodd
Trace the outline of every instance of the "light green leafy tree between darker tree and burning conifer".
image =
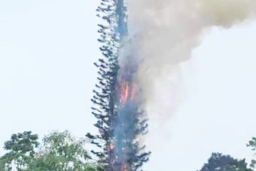
<svg viewBox="0 0 256 171">
<path fill-rule="evenodd" d="M 90 156 L 84 149 L 85 140 L 75 140 L 68 131 L 53 132 L 43 138 L 44 148 L 30 163 L 30 170 L 80 171 L 93 170 Z"/>
</svg>

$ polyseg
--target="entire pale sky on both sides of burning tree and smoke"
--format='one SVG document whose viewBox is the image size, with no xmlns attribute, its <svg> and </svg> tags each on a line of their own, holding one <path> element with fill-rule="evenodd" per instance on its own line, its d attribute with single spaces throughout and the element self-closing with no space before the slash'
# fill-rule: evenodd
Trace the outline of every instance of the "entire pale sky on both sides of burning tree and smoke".
<svg viewBox="0 0 256 171">
<path fill-rule="evenodd" d="M 22 131 L 94 131 L 98 4 L 0 1 L 0 147 Z M 183 103 L 163 128 L 150 128 L 159 141 L 149 146 L 148 171 L 196 170 L 212 152 L 253 155 L 246 143 L 256 136 L 255 44 L 256 23 L 202 36 L 192 60 L 181 64 Z"/>
</svg>

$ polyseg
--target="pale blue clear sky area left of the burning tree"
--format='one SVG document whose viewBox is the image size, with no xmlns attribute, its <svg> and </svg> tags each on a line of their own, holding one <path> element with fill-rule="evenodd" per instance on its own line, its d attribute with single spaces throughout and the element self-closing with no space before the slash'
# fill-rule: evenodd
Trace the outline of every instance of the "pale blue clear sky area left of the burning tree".
<svg viewBox="0 0 256 171">
<path fill-rule="evenodd" d="M 0 146 L 21 131 L 91 131 L 98 4 L 0 1 Z"/>
</svg>

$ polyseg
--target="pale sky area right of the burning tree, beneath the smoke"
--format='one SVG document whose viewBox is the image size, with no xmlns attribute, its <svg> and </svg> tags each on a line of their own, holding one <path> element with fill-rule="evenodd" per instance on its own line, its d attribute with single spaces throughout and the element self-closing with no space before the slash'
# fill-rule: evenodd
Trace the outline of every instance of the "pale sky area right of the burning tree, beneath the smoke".
<svg viewBox="0 0 256 171">
<path fill-rule="evenodd" d="M 181 64 L 183 103 L 154 128 L 160 131 L 150 143 L 150 171 L 196 170 L 212 152 L 251 160 L 246 144 L 256 136 L 255 44 L 256 22 L 214 27 L 203 36 L 192 60 Z"/>
</svg>

